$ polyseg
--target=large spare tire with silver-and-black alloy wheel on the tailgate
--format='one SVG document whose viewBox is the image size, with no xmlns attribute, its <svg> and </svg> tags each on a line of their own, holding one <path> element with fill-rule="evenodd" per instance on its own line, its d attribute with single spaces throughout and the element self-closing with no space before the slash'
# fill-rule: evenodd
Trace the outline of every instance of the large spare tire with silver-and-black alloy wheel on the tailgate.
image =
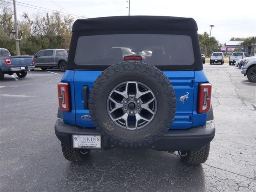
<svg viewBox="0 0 256 192">
<path fill-rule="evenodd" d="M 92 86 L 89 110 L 96 129 L 123 147 L 143 147 L 170 128 L 176 97 L 155 66 L 126 61 L 108 67 Z"/>
</svg>

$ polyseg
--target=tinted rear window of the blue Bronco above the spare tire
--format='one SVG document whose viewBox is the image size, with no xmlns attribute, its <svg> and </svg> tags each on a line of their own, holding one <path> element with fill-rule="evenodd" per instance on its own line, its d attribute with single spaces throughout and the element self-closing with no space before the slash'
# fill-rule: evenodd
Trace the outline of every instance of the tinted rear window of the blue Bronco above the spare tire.
<svg viewBox="0 0 256 192">
<path fill-rule="evenodd" d="M 136 52 L 132 52 L 136 50 Z M 186 35 L 170 34 L 110 34 L 78 38 L 74 62 L 76 65 L 112 65 L 123 61 L 127 54 L 142 55 L 152 65 L 192 65 L 192 40 Z"/>
</svg>

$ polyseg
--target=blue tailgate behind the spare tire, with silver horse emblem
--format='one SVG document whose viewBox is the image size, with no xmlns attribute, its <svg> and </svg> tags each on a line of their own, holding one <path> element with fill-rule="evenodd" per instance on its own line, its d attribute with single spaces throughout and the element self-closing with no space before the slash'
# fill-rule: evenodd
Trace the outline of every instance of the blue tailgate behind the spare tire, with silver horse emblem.
<svg viewBox="0 0 256 192">
<path fill-rule="evenodd" d="M 74 71 L 76 124 L 82 127 L 94 127 L 88 109 L 84 109 L 83 87 L 89 90 L 102 71 Z M 166 71 L 164 74 L 172 83 L 176 94 L 176 114 L 172 129 L 186 129 L 192 127 L 194 103 L 194 71 Z M 87 95 L 87 100 L 88 100 Z"/>
</svg>

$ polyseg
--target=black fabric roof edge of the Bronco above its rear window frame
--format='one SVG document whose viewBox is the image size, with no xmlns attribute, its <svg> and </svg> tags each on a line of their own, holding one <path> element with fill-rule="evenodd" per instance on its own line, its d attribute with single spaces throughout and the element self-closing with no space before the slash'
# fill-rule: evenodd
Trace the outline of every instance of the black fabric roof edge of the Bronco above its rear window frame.
<svg viewBox="0 0 256 192">
<path fill-rule="evenodd" d="M 114 16 L 78 19 L 74 22 L 72 31 L 129 29 L 198 30 L 196 21 L 193 18 L 168 16 Z"/>
</svg>

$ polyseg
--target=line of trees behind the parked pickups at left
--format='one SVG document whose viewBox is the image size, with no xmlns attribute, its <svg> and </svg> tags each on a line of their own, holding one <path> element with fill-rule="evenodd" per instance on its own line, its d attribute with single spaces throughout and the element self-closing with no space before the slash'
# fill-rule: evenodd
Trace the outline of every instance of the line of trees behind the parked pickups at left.
<svg viewBox="0 0 256 192">
<path fill-rule="evenodd" d="M 59 12 L 33 15 L 24 12 L 18 20 L 18 29 L 23 31 L 20 41 L 21 54 L 32 55 L 48 48 L 69 48 L 73 23 L 73 17 L 63 16 Z M 14 55 L 15 40 L 10 35 L 12 28 L 12 6 L 8 2 L 0 1 L 0 47 L 7 48 Z"/>
</svg>

